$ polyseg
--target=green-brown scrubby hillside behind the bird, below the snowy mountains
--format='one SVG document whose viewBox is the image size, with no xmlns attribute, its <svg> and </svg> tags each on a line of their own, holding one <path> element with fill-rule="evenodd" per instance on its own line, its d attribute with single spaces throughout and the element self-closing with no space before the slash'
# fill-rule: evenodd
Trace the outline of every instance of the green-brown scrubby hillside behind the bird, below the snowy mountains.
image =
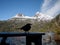
<svg viewBox="0 0 60 45">
<path fill-rule="evenodd" d="M 57 15 L 52 21 L 38 21 L 38 20 L 6 20 L 0 21 L 0 32 L 23 32 L 20 29 L 23 25 L 32 23 L 30 32 L 45 32 L 47 30 L 60 33 L 60 14 Z"/>
</svg>

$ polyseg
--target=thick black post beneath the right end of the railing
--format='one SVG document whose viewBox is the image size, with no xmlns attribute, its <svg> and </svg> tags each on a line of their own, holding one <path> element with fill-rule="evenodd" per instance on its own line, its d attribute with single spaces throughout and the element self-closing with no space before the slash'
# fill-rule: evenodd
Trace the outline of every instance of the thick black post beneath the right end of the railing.
<svg viewBox="0 0 60 45">
<path fill-rule="evenodd" d="M 35 45 L 42 45 L 42 35 L 26 36 L 26 45 L 31 45 L 32 42 L 34 42 Z"/>
</svg>

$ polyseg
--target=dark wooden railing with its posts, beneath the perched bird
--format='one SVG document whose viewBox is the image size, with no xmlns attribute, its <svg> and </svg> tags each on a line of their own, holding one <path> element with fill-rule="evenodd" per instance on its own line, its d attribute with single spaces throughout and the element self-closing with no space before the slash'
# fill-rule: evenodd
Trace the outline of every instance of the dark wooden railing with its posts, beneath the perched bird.
<svg viewBox="0 0 60 45">
<path fill-rule="evenodd" d="M 42 35 L 45 33 L 13 33 L 13 32 L 1 32 L 0 37 L 3 39 L 1 40 L 0 45 L 9 45 L 6 43 L 6 39 L 8 37 L 17 37 L 17 36 L 26 36 L 26 45 L 31 45 L 31 42 L 34 42 L 35 45 L 42 45 Z"/>
</svg>

